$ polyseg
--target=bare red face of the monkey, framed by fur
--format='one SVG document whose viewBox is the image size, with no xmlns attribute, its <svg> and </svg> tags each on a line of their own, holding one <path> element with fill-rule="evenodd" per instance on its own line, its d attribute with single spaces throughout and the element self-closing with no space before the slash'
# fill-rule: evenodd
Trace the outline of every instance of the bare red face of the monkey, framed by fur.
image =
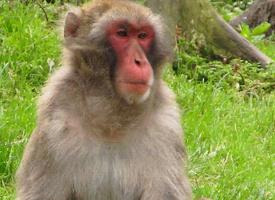
<svg viewBox="0 0 275 200">
<path fill-rule="evenodd" d="M 155 33 L 150 25 L 116 21 L 107 32 L 117 56 L 115 86 L 128 103 L 141 102 L 150 94 L 153 69 L 147 59 Z"/>
</svg>

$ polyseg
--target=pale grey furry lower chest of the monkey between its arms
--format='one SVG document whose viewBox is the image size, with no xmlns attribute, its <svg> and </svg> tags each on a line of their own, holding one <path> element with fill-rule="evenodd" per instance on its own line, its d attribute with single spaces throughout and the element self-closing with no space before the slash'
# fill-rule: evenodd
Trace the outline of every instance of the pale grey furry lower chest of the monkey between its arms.
<svg viewBox="0 0 275 200">
<path fill-rule="evenodd" d="M 146 161 L 148 155 L 141 156 L 137 150 L 136 146 L 101 144 L 93 146 L 85 156 L 76 155 L 73 163 L 78 167 L 72 171 L 76 196 L 81 200 L 139 199 L 140 185 L 153 167 Z"/>
</svg>

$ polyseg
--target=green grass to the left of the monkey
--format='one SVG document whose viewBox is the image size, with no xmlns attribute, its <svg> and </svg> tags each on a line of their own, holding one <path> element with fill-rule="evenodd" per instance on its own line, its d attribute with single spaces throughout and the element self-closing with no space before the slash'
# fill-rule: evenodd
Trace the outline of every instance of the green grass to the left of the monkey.
<svg viewBox="0 0 275 200">
<path fill-rule="evenodd" d="M 35 99 L 52 70 L 48 63 L 59 57 L 57 34 L 42 10 L 7 2 L 0 2 L 0 192 L 12 181 L 34 127 Z"/>
</svg>

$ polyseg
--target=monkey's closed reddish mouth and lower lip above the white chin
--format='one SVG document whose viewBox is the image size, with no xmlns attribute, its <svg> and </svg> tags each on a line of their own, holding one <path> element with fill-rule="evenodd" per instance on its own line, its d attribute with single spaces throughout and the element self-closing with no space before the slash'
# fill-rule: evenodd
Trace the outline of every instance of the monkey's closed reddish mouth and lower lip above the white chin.
<svg viewBox="0 0 275 200">
<path fill-rule="evenodd" d="M 120 81 L 119 85 L 122 90 L 138 95 L 144 95 L 151 87 L 147 81 Z"/>
</svg>

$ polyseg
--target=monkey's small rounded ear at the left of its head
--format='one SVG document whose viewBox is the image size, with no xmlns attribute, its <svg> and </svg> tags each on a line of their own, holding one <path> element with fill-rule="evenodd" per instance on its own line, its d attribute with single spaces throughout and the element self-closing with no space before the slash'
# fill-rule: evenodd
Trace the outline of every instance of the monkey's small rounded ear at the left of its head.
<svg viewBox="0 0 275 200">
<path fill-rule="evenodd" d="M 76 37 L 77 30 L 80 26 L 80 19 L 73 12 L 68 12 L 65 18 L 65 25 L 64 25 L 64 37 Z"/>
</svg>

